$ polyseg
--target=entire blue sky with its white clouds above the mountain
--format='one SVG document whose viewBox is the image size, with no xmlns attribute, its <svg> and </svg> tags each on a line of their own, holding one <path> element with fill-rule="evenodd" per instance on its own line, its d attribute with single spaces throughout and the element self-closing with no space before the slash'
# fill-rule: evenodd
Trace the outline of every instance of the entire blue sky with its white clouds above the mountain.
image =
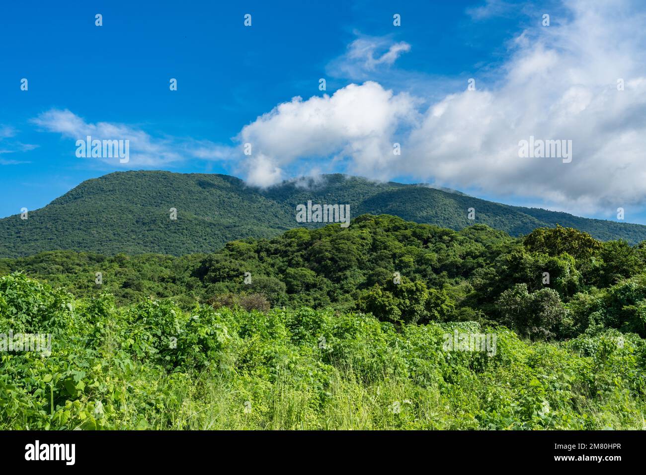
<svg viewBox="0 0 646 475">
<path fill-rule="evenodd" d="M 36 4 L 1 7 L 0 216 L 164 169 L 347 172 L 646 223 L 639 3 Z M 76 157 L 87 133 L 130 139 L 129 163 Z M 572 163 L 519 158 L 530 135 L 572 139 Z"/>
</svg>

